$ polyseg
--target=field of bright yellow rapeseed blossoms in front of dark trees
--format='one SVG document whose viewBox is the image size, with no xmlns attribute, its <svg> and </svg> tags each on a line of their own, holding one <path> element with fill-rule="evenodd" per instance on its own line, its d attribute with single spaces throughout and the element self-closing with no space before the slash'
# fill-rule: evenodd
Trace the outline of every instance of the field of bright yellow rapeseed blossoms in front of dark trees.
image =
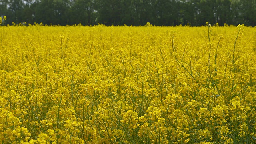
<svg viewBox="0 0 256 144">
<path fill-rule="evenodd" d="M 256 143 L 256 28 L 0 26 L 0 143 Z"/>
</svg>

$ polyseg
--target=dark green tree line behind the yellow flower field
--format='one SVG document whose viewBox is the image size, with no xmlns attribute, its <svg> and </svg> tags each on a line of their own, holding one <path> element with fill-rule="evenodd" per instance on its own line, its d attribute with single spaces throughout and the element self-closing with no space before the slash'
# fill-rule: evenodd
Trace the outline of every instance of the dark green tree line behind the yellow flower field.
<svg viewBox="0 0 256 144">
<path fill-rule="evenodd" d="M 256 0 L 0 0 L 0 16 L 47 25 L 256 25 Z"/>
</svg>

